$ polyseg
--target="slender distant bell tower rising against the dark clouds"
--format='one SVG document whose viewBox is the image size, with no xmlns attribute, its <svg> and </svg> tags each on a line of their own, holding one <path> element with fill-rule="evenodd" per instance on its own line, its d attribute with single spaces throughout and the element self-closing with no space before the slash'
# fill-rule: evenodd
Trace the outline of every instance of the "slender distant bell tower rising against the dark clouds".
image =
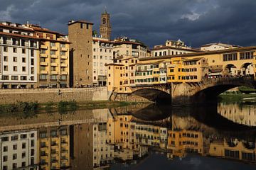
<svg viewBox="0 0 256 170">
<path fill-rule="evenodd" d="M 111 35 L 110 13 L 107 13 L 106 10 L 101 15 L 100 35 L 102 35 L 102 38 L 107 38 L 108 40 L 110 40 L 110 35 Z"/>
</svg>

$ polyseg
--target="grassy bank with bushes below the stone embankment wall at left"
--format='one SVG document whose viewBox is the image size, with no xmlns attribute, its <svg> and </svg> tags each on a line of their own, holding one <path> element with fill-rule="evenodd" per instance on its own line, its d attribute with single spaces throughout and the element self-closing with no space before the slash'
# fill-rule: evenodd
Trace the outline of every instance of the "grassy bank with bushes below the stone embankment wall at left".
<svg viewBox="0 0 256 170">
<path fill-rule="evenodd" d="M 58 103 L 53 103 L 51 101 L 47 103 L 17 102 L 14 104 L 0 105 L 0 115 L 20 115 L 22 118 L 28 118 L 37 113 L 58 112 L 60 114 L 65 114 L 77 110 L 116 108 L 136 104 L 137 102 L 125 101 L 88 101 L 79 103 L 76 101 L 60 101 Z"/>
</svg>

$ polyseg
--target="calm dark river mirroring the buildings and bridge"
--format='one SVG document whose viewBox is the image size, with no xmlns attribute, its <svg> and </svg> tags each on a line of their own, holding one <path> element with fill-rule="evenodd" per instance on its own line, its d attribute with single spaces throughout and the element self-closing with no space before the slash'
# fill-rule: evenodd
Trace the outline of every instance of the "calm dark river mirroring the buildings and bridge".
<svg viewBox="0 0 256 170">
<path fill-rule="evenodd" d="M 1 169 L 256 169 L 256 103 L 1 115 Z"/>
</svg>

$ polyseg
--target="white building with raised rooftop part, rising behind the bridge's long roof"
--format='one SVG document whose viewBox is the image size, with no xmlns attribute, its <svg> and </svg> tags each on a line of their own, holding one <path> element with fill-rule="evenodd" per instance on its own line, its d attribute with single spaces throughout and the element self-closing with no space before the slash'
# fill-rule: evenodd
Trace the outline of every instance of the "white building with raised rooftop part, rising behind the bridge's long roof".
<svg viewBox="0 0 256 170">
<path fill-rule="evenodd" d="M 155 45 L 151 49 L 151 56 L 166 56 L 166 55 L 183 55 L 191 52 L 199 52 L 200 50 L 193 49 L 185 45 L 181 40 L 166 40 L 165 45 Z"/>
</svg>

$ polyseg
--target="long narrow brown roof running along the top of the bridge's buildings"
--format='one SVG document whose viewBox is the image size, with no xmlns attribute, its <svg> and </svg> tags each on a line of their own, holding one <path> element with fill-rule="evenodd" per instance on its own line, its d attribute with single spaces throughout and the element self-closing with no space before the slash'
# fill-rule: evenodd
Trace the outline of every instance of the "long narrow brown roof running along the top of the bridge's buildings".
<svg viewBox="0 0 256 170">
<path fill-rule="evenodd" d="M 193 53 L 187 53 L 183 55 L 166 55 L 166 56 L 157 56 L 157 57 L 144 57 L 140 58 L 140 61 L 145 60 L 161 60 L 161 59 L 169 59 L 172 57 L 195 57 L 195 56 L 201 56 L 201 55 L 214 55 L 214 54 L 225 54 L 230 52 L 240 52 L 240 51 L 248 51 L 248 50 L 256 50 L 256 46 L 252 47 L 240 47 L 240 48 L 231 48 L 226 50 L 215 50 L 215 51 L 207 51 L 207 52 L 193 52 Z"/>
</svg>

